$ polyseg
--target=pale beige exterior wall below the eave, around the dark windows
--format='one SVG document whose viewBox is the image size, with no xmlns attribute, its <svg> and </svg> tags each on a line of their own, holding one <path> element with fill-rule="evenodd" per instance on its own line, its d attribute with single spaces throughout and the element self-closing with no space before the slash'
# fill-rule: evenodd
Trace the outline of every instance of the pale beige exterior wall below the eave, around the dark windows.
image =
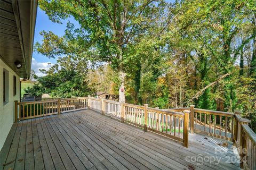
<svg viewBox="0 0 256 170">
<path fill-rule="evenodd" d="M 9 72 L 9 101 L 4 103 L 3 99 L 3 72 Z M 13 75 L 16 76 L 17 94 L 13 96 Z M 0 150 L 14 122 L 14 100 L 20 99 L 20 77 L 10 69 L 0 58 Z"/>
</svg>

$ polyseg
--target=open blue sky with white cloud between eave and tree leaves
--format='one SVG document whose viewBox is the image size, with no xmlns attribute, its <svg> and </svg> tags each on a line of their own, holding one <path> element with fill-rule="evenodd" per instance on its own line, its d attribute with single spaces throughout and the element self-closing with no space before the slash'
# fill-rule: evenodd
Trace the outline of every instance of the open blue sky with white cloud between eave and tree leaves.
<svg viewBox="0 0 256 170">
<path fill-rule="evenodd" d="M 49 20 L 48 16 L 42 11 L 39 7 L 37 9 L 37 18 L 36 18 L 36 28 L 35 28 L 35 38 L 34 44 L 36 42 L 42 43 L 43 37 L 39 34 L 41 31 L 52 31 L 58 36 L 63 36 L 65 33 L 67 22 L 70 21 L 75 25 L 78 25 L 78 22 L 74 18 L 69 18 L 68 20 L 63 20 L 62 24 L 53 23 Z M 31 69 L 33 69 L 37 75 L 43 75 L 39 72 L 38 69 L 49 69 L 50 65 L 48 63 L 55 64 L 58 58 L 47 58 L 37 52 L 33 52 L 33 59 L 31 64 Z"/>
</svg>

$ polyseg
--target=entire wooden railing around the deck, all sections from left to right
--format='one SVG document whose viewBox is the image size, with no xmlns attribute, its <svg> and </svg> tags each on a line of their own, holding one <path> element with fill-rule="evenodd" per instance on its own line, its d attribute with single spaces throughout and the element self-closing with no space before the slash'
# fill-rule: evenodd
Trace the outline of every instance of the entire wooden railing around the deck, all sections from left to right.
<svg viewBox="0 0 256 170">
<path fill-rule="evenodd" d="M 93 97 L 55 99 L 47 101 L 15 101 L 15 122 L 41 116 L 91 108 L 116 120 L 129 123 L 144 131 L 153 131 L 183 142 L 188 147 L 188 132 L 233 141 L 240 155 L 241 168 L 256 169 L 256 134 L 249 120 L 235 113 L 195 108 L 158 109 L 119 103 Z"/>
</svg>

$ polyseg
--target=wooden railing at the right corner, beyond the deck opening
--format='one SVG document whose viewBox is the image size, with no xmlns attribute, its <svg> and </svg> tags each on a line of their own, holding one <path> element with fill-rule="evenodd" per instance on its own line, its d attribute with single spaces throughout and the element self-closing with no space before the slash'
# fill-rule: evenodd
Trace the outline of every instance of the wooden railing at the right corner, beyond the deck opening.
<svg viewBox="0 0 256 170">
<path fill-rule="evenodd" d="M 235 113 L 210 111 L 195 108 L 173 108 L 167 111 L 190 110 L 190 133 L 205 135 L 233 141 L 240 155 L 240 167 L 256 169 L 256 134 L 248 126 L 250 123 L 241 117 L 240 111 Z"/>
</svg>

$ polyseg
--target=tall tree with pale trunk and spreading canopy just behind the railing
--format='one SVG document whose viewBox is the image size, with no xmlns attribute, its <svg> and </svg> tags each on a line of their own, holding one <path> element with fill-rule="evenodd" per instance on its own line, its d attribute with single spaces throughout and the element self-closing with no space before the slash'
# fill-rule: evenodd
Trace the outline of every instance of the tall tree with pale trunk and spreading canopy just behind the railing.
<svg viewBox="0 0 256 170">
<path fill-rule="evenodd" d="M 62 19 L 73 16 L 79 28 L 69 23 L 63 37 L 42 32 L 43 44 L 37 43 L 37 51 L 48 57 L 83 55 L 92 62 L 111 63 L 119 72 L 119 100 L 124 101 L 124 62 L 129 55 L 126 49 L 158 24 L 164 25 L 170 20 L 165 14 L 166 4 L 161 0 L 41 0 L 39 7 L 51 21 L 61 23 Z"/>
</svg>

